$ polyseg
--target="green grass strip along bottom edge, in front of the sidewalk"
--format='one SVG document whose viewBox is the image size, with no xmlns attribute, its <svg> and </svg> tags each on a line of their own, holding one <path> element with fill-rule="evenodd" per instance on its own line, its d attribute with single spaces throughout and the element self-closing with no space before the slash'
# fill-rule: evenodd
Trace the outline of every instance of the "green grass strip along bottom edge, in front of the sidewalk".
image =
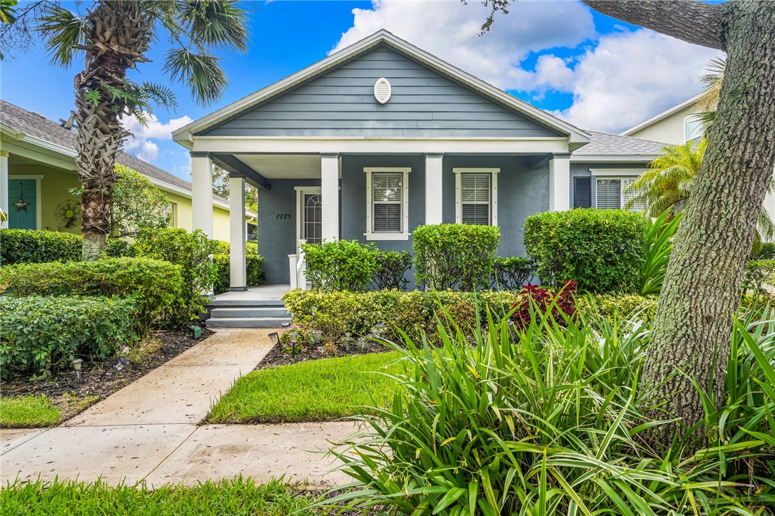
<svg viewBox="0 0 775 516">
<path fill-rule="evenodd" d="M 207 481 L 197 487 L 111 487 L 97 482 L 16 483 L 0 490 L 2 514 L 111 514 L 132 516 L 210 516 L 251 514 L 329 514 L 309 506 L 320 495 L 298 494 L 287 484 L 272 480 L 253 484 L 250 479 Z M 298 511 L 298 512 L 297 512 Z"/>
</svg>

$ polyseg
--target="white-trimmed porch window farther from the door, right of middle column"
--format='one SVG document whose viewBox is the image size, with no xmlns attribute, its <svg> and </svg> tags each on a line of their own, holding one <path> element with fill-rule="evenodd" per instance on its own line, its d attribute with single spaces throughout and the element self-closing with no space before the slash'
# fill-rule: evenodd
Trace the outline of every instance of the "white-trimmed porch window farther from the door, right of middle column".
<svg viewBox="0 0 775 516">
<path fill-rule="evenodd" d="M 498 225 L 498 172 L 500 169 L 453 169 L 455 222 Z"/>
</svg>

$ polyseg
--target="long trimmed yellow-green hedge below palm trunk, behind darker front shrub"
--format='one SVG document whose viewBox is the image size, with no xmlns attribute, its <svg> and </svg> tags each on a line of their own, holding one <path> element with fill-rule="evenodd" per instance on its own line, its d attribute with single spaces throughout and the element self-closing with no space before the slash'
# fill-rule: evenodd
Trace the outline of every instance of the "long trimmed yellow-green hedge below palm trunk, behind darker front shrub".
<svg viewBox="0 0 775 516">
<path fill-rule="evenodd" d="M 24 296 L 132 296 L 140 330 L 175 320 L 181 309 L 181 268 L 147 258 L 19 264 L 0 268 L 6 293 Z"/>
</svg>

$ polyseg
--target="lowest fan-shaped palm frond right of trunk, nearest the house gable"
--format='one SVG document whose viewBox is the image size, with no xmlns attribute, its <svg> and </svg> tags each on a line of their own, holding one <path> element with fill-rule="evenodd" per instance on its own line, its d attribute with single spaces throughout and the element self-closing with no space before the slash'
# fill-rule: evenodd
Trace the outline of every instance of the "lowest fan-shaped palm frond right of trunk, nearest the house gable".
<svg viewBox="0 0 775 516">
<path fill-rule="evenodd" d="M 171 79 L 191 87 L 199 104 L 206 105 L 220 97 L 228 81 L 219 66 L 219 58 L 190 52 L 184 48 L 167 51 L 164 72 Z"/>
</svg>

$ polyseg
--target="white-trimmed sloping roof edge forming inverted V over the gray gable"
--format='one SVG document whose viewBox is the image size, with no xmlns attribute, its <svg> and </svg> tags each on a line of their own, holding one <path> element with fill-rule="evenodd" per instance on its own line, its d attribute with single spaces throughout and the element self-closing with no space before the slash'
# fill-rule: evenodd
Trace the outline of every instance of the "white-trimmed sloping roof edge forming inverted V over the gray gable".
<svg viewBox="0 0 775 516">
<path fill-rule="evenodd" d="M 568 141 L 570 144 L 575 144 L 573 145 L 574 147 L 584 145 L 585 143 L 589 142 L 589 135 L 587 132 L 574 127 L 574 125 L 570 125 L 566 121 L 560 120 L 560 118 L 556 118 L 553 115 L 548 114 L 545 111 L 542 111 L 525 101 L 521 101 L 513 95 L 510 95 L 505 91 L 492 86 L 491 84 L 487 84 L 483 80 L 474 77 L 470 73 L 453 67 L 451 64 L 440 60 L 438 57 L 433 56 L 432 54 L 427 53 L 410 43 L 407 43 L 405 40 L 394 36 L 391 32 L 387 32 L 387 30 L 384 29 L 374 32 L 374 34 L 371 36 L 367 36 L 366 38 L 361 39 L 359 42 L 354 43 L 353 45 L 350 45 L 343 50 L 339 50 L 339 52 L 333 53 L 332 55 L 326 57 L 324 60 L 321 60 L 310 67 L 306 67 L 305 69 L 300 70 L 297 73 L 284 78 L 283 80 L 279 80 L 274 84 L 270 84 L 269 86 L 248 95 L 247 97 L 243 97 L 239 101 L 229 104 L 225 108 L 214 111 L 205 117 L 191 122 L 191 124 L 177 129 L 177 131 L 172 133 L 173 139 L 176 142 L 181 143 L 181 145 L 191 148 L 191 138 L 196 133 L 203 132 L 208 128 L 212 128 L 213 126 L 218 125 L 222 121 L 226 121 L 236 114 L 253 108 L 260 103 L 269 101 L 270 99 L 283 94 L 285 91 L 308 82 L 315 77 L 319 77 L 327 70 L 331 70 L 334 67 L 339 67 L 343 63 L 353 60 L 353 58 L 356 56 L 360 56 L 361 54 L 378 45 L 389 46 L 392 50 L 410 57 L 412 60 L 421 63 L 425 67 L 435 70 L 444 77 L 455 80 L 459 84 L 463 84 L 463 86 L 468 87 L 472 91 L 476 91 L 478 94 L 489 98 L 491 101 L 494 101 L 497 104 L 501 104 L 506 108 L 517 111 L 527 118 L 531 118 L 540 124 L 546 125 L 549 128 L 560 132 L 560 134 L 567 135 L 569 137 Z"/>
</svg>

